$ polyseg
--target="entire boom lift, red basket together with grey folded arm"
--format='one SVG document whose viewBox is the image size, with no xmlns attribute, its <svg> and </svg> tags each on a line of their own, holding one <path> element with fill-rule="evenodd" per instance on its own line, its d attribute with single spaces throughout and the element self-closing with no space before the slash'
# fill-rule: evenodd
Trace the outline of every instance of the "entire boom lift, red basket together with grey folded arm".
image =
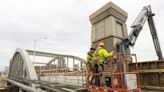
<svg viewBox="0 0 164 92">
<path fill-rule="evenodd" d="M 102 73 L 96 74 L 99 76 L 103 75 L 104 77 L 105 75 L 109 75 L 111 77 L 111 86 L 107 87 L 106 83 L 102 83 L 104 85 L 101 85 L 99 87 L 95 85 L 84 85 L 85 88 L 90 89 L 93 92 L 141 92 L 140 83 L 139 83 L 140 77 L 139 77 L 139 73 L 137 72 L 138 65 L 137 65 L 136 55 L 126 54 L 125 51 L 130 46 L 134 47 L 136 40 L 139 36 L 139 33 L 143 29 L 143 26 L 147 20 L 150 31 L 151 31 L 152 39 L 154 42 L 156 54 L 159 60 L 163 60 L 163 56 L 162 56 L 162 52 L 161 52 L 161 48 L 160 48 L 160 44 L 158 40 L 158 35 L 157 35 L 155 25 L 154 25 L 153 16 L 154 16 L 154 13 L 152 13 L 150 5 L 143 7 L 142 11 L 140 12 L 138 17 L 135 19 L 135 21 L 131 25 L 132 31 L 130 32 L 129 36 L 127 38 L 121 39 L 122 41 L 116 44 L 118 58 L 117 60 L 114 60 L 114 61 L 116 62 L 115 65 L 116 65 L 117 71 L 113 71 L 112 70 L 113 64 L 110 64 L 110 68 L 112 71 L 110 72 L 104 71 Z M 127 56 L 132 58 L 133 55 L 136 59 L 136 62 L 135 62 L 136 63 L 135 67 L 137 68 L 136 72 L 127 72 L 128 62 L 126 61 L 126 58 Z M 133 81 L 129 79 L 132 77 L 134 78 Z M 117 81 L 115 81 L 115 79 Z M 133 84 L 137 84 L 137 86 L 129 87 L 129 84 L 130 86 L 132 86 Z M 129 88 L 131 88 L 131 90 Z"/>
</svg>

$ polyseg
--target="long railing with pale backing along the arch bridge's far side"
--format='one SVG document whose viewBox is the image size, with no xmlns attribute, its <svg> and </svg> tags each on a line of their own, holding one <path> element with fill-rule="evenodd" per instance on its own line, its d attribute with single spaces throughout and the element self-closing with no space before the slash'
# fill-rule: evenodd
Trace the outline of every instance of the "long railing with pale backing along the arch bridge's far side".
<svg viewBox="0 0 164 92">
<path fill-rule="evenodd" d="M 38 79 L 41 81 L 49 81 L 75 86 L 83 86 L 85 83 L 85 65 L 81 67 L 56 67 L 52 69 L 45 69 L 43 67 L 45 66 L 40 66 L 36 69 Z"/>
</svg>

